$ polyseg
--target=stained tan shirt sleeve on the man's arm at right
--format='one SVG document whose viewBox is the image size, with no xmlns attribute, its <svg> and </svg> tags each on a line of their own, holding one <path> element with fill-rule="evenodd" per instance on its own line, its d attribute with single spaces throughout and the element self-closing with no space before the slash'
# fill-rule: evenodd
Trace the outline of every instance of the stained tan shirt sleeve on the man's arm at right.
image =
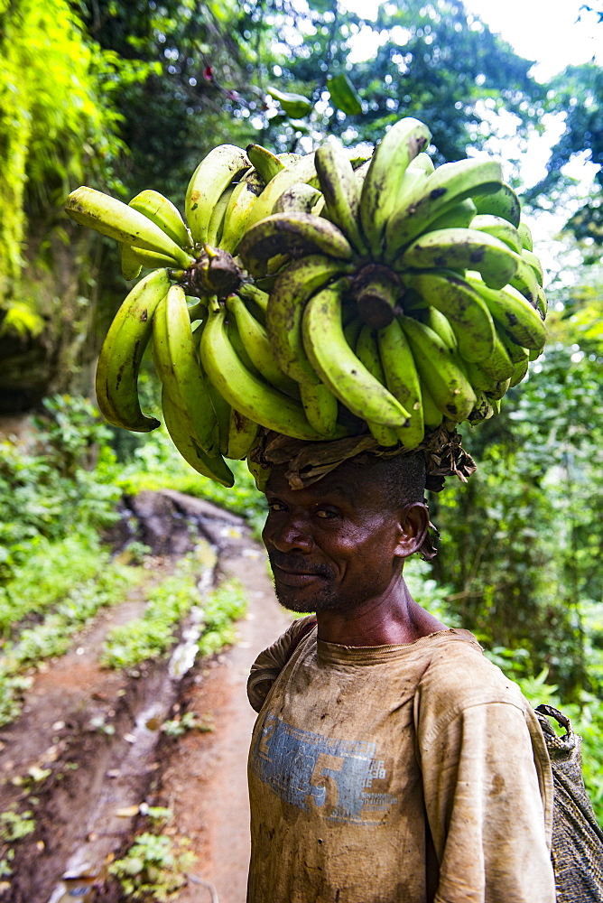
<svg viewBox="0 0 603 903">
<path fill-rule="evenodd" d="M 523 709 L 470 705 L 418 731 L 440 865 L 434 903 L 554 903 L 550 818 Z"/>
</svg>

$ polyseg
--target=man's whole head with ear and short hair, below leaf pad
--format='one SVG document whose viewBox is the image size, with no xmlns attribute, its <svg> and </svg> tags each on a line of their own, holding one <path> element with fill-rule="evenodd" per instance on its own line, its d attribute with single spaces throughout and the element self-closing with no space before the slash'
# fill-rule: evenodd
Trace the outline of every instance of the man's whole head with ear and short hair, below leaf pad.
<svg viewBox="0 0 603 903">
<path fill-rule="evenodd" d="M 421 452 L 340 464 L 291 489 L 274 467 L 264 544 L 276 593 L 293 611 L 350 610 L 384 596 L 428 526 Z"/>
</svg>

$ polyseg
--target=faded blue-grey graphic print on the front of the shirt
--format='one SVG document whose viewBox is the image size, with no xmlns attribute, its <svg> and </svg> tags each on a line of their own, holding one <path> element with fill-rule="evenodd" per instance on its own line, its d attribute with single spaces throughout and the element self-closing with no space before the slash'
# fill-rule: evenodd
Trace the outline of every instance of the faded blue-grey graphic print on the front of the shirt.
<svg viewBox="0 0 603 903">
<path fill-rule="evenodd" d="M 276 796 L 331 822 L 378 824 L 398 802 L 380 789 L 387 773 L 376 743 L 302 731 L 272 712 L 265 714 L 250 767 Z"/>
</svg>

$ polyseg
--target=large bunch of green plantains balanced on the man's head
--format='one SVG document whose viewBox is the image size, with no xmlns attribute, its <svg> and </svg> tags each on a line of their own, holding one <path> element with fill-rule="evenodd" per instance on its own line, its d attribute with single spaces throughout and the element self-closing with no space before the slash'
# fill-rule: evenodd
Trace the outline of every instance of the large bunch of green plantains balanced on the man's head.
<svg viewBox="0 0 603 903">
<path fill-rule="evenodd" d="M 325 441 L 425 433 L 499 410 L 542 352 L 543 269 L 499 163 L 437 169 L 430 131 L 398 121 L 369 159 L 222 144 L 199 163 L 185 220 L 157 191 L 129 204 L 73 191 L 70 217 L 119 242 L 135 284 L 111 324 L 97 400 L 147 432 L 137 379 L 152 341 L 181 455 L 230 486 L 259 426 Z"/>
</svg>

